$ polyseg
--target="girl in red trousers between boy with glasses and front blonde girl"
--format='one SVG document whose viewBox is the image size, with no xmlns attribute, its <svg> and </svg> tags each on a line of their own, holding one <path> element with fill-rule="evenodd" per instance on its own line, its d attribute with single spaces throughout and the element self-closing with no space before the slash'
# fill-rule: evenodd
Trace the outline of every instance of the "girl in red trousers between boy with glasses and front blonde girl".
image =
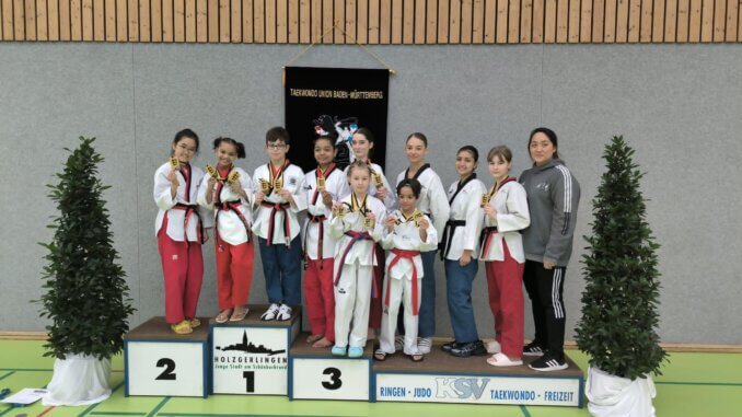
<svg viewBox="0 0 742 417">
<path fill-rule="evenodd" d="M 306 343 L 312 347 L 333 346 L 335 341 L 335 296 L 333 269 L 335 239 L 329 234 L 333 201 L 348 194 L 347 176 L 337 170 L 335 138 L 327 135 L 314 140 L 317 169 L 304 176 L 308 212 L 304 222 L 304 294 L 306 315 L 312 334 Z"/>
</svg>

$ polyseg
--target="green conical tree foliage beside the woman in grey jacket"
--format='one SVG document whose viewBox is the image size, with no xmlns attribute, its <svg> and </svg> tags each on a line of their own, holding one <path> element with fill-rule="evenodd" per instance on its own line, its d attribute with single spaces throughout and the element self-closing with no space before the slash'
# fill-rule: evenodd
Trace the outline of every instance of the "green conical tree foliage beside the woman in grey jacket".
<svg viewBox="0 0 742 417">
<path fill-rule="evenodd" d="M 644 176 L 623 137 L 606 144 L 603 174 L 593 199 L 592 235 L 582 256 L 586 289 L 577 346 L 590 363 L 636 379 L 661 374 L 666 360 L 656 332 L 660 283 L 654 242 L 639 190 Z"/>
</svg>

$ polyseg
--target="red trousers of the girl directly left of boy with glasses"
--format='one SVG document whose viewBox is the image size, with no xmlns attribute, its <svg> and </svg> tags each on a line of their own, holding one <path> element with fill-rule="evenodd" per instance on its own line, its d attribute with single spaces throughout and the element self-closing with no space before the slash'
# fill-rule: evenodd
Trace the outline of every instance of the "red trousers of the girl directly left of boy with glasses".
<svg viewBox="0 0 742 417">
<path fill-rule="evenodd" d="M 217 234 L 217 293 L 219 310 L 247 304 L 253 283 L 253 240 L 231 245 Z"/>
</svg>

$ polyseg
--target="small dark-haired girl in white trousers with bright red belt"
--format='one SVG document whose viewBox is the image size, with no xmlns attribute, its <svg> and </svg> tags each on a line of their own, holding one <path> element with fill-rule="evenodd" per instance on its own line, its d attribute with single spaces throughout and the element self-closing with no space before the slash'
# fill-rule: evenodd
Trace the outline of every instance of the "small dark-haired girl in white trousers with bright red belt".
<svg viewBox="0 0 742 417">
<path fill-rule="evenodd" d="M 386 258 L 380 347 L 373 355 L 379 361 L 386 359 L 386 355 L 394 354 L 396 349 L 394 334 L 403 299 L 404 323 L 407 329 L 403 351 L 414 362 L 419 362 L 424 358 L 417 346 L 420 279 L 425 276 L 420 251 L 436 248 L 438 233 L 430 219 L 416 208 L 420 188 L 417 179 L 403 179 L 397 186 L 399 209 L 387 216 L 384 222 L 382 245 L 391 253 Z"/>
</svg>

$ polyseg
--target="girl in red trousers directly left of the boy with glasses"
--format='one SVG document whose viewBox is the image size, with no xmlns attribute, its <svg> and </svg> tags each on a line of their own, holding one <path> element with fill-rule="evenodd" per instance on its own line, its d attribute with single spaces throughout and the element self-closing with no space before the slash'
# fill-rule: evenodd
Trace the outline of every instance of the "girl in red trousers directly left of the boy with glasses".
<svg viewBox="0 0 742 417">
<path fill-rule="evenodd" d="M 198 202 L 215 210 L 217 223 L 217 323 L 239 322 L 247 315 L 247 300 L 253 282 L 253 245 L 250 209 L 255 199 L 253 182 L 234 161 L 245 158 L 245 147 L 231 138 L 213 141 L 217 167 L 207 165 Z"/>
</svg>

